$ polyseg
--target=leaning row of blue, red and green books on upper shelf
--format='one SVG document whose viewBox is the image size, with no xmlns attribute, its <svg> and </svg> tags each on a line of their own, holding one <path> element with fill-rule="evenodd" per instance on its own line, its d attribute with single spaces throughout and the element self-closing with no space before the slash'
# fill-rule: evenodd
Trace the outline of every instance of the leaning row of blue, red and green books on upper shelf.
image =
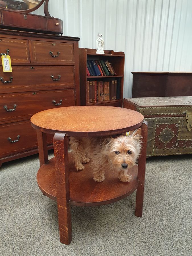
<svg viewBox="0 0 192 256">
<path fill-rule="evenodd" d="M 87 60 L 87 76 L 116 76 L 112 63 L 108 60 Z"/>
</svg>

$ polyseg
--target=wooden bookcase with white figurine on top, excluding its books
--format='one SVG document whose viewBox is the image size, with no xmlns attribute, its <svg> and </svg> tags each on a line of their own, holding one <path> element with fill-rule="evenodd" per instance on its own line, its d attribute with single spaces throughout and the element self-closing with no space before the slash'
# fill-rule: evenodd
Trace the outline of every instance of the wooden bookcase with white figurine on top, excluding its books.
<svg viewBox="0 0 192 256">
<path fill-rule="evenodd" d="M 124 63 L 125 53 L 122 51 L 104 50 L 105 54 L 96 54 L 96 49 L 79 48 L 79 70 L 80 70 L 80 97 L 81 105 L 100 105 L 100 106 L 114 106 L 122 107 L 123 105 L 123 78 L 124 78 Z M 87 76 L 86 63 L 87 60 L 108 60 L 112 63 L 116 72 L 116 76 Z M 105 81 L 109 79 L 121 78 L 121 97 L 119 100 L 106 100 L 87 103 L 87 81 Z"/>
</svg>

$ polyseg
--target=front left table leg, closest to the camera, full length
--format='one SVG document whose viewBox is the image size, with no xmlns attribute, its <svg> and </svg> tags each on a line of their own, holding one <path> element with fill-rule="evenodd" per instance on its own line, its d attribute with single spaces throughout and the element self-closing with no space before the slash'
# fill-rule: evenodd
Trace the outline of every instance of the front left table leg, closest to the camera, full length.
<svg viewBox="0 0 192 256">
<path fill-rule="evenodd" d="M 53 137 L 53 146 L 55 154 L 59 234 L 61 243 L 65 244 L 70 244 L 72 240 L 71 210 L 69 206 L 68 145 L 69 137 L 67 137 L 66 134 L 55 133 Z"/>
</svg>

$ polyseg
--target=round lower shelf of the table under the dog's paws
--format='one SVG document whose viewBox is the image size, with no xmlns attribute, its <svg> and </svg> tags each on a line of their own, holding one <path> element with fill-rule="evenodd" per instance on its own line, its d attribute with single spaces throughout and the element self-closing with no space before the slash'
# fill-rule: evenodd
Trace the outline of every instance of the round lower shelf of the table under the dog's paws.
<svg viewBox="0 0 192 256">
<path fill-rule="evenodd" d="M 119 201 L 137 189 L 137 165 L 129 169 L 132 175 L 130 182 L 121 182 L 117 172 L 105 172 L 105 180 L 96 182 L 89 164 L 84 164 L 82 171 L 76 171 L 73 158 L 69 153 L 69 182 L 70 205 L 97 206 Z M 57 187 L 55 181 L 55 162 L 51 158 L 43 164 L 37 173 L 37 183 L 44 195 L 57 201 Z"/>
</svg>

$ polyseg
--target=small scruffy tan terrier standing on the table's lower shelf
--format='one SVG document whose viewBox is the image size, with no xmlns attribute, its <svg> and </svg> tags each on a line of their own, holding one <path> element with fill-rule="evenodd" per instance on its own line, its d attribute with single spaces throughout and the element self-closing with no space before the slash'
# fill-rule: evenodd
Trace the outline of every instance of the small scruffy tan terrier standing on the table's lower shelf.
<svg viewBox="0 0 192 256">
<path fill-rule="evenodd" d="M 129 136 L 118 137 L 70 137 L 75 168 L 83 170 L 83 164 L 90 161 L 94 180 L 105 179 L 105 170 L 117 170 L 120 181 L 131 180 L 129 166 L 135 165 L 141 152 L 141 129 L 133 131 Z"/>
</svg>

